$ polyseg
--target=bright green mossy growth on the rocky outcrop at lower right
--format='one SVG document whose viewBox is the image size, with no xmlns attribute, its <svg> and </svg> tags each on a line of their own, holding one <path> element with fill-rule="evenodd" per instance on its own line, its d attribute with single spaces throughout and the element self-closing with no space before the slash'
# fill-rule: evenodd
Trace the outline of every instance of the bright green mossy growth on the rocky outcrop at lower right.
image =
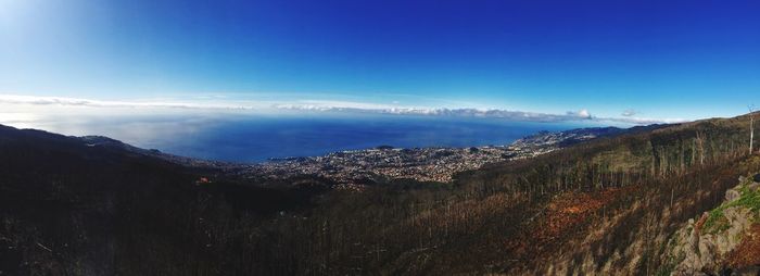
<svg viewBox="0 0 760 276">
<path fill-rule="evenodd" d="M 731 227 L 729 219 L 723 214 L 723 212 L 729 208 L 740 206 L 749 209 L 752 213 L 755 213 L 752 219 L 756 222 L 760 221 L 760 189 L 750 191 L 747 184 L 744 183 L 742 186 L 739 186 L 738 191 L 742 196 L 737 200 L 723 203 L 708 213 L 704 227 L 706 233 L 721 233 Z"/>
</svg>

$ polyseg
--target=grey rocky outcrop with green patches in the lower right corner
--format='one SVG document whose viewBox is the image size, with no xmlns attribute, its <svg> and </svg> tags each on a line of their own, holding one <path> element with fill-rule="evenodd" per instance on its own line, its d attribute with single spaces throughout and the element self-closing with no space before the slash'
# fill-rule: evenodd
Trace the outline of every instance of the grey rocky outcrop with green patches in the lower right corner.
<svg viewBox="0 0 760 276">
<path fill-rule="evenodd" d="M 760 174 L 739 177 L 724 202 L 668 242 L 670 275 L 760 275 Z"/>
</svg>

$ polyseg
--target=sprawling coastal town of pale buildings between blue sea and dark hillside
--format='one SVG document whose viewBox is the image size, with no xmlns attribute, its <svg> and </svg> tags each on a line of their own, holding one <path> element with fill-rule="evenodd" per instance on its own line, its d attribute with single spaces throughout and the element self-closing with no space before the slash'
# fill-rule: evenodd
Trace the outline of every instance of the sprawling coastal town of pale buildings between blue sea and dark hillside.
<svg viewBox="0 0 760 276">
<path fill-rule="evenodd" d="M 324 156 L 289 158 L 265 163 L 236 166 L 230 172 L 243 177 L 287 179 L 312 175 L 343 186 L 414 179 L 451 183 L 460 172 L 485 164 L 532 158 L 577 142 L 620 130 L 619 128 L 581 128 L 568 131 L 541 131 L 507 146 L 470 148 L 373 149 L 329 153 Z"/>
</svg>

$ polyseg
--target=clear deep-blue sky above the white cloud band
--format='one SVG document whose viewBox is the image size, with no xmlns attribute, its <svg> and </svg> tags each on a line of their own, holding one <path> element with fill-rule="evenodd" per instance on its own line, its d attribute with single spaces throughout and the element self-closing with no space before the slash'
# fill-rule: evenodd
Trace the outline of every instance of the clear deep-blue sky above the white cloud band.
<svg viewBox="0 0 760 276">
<path fill-rule="evenodd" d="M 0 93 L 729 116 L 760 1 L 0 0 Z"/>
</svg>

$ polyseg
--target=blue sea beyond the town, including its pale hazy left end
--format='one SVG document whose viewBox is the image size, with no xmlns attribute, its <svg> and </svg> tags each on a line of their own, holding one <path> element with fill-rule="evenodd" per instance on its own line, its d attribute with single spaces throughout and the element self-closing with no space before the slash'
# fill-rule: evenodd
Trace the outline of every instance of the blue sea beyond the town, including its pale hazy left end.
<svg viewBox="0 0 760 276">
<path fill-rule="evenodd" d="M 308 113 L 55 117 L 29 125 L 66 135 L 102 135 L 140 148 L 231 162 L 315 156 L 378 146 L 501 146 L 541 130 L 586 126 L 592 125 L 484 117 Z"/>
</svg>

